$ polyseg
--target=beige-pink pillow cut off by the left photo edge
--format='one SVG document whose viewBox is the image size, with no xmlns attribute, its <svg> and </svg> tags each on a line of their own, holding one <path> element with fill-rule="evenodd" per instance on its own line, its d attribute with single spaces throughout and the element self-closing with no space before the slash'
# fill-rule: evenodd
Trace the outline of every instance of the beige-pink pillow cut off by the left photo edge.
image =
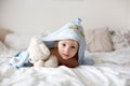
<svg viewBox="0 0 130 86">
<path fill-rule="evenodd" d="M 11 30 L 0 27 L 0 41 L 4 42 L 6 34 L 9 34 L 11 32 L 12 32 Z"/>
</svg>

